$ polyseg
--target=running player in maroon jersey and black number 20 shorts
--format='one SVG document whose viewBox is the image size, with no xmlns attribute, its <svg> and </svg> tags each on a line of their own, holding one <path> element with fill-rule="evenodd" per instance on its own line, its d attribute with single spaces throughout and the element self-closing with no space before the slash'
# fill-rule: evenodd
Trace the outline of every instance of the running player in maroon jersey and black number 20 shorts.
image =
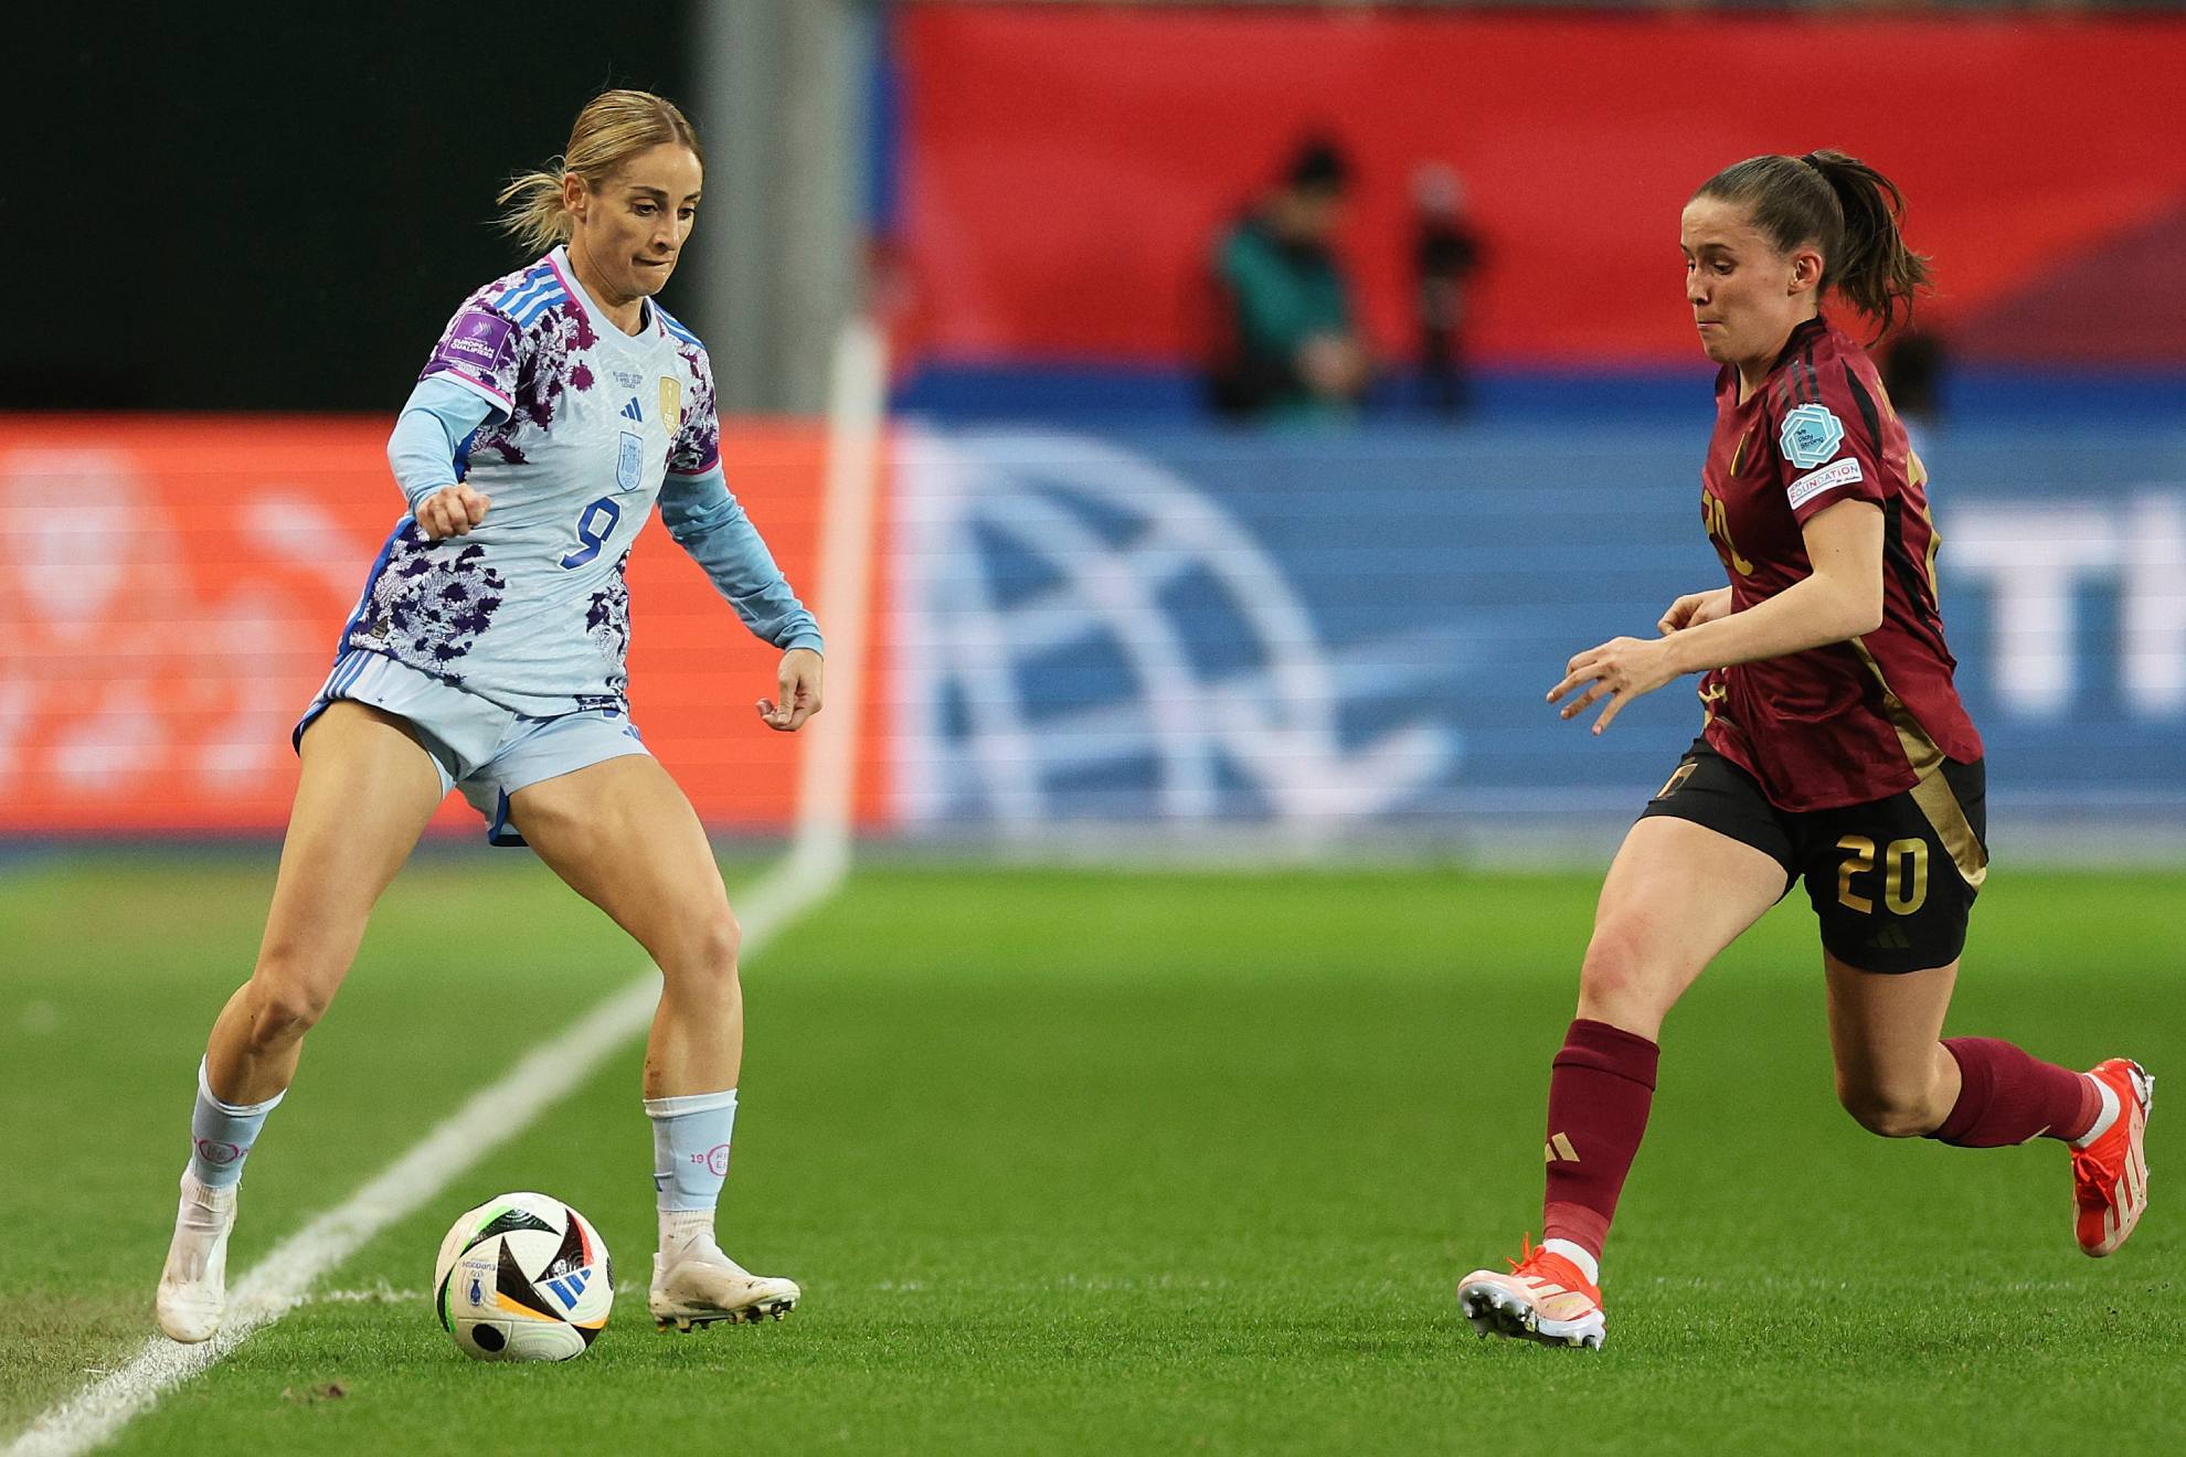
<svg viewBox="0 0 2186 1457">
<path fill-rule="evenodd" d="M 1981 736 L 1952 688 L 1926 472 L 1823 297 L 1897 321 L 1926 284 L 1897 188 L 1836 151 L 1751 157 L 1685 205 L 1685 297 L 1716 376 L 1701 520 L 1727 588 L 1670 603 L 1659 638 L 1572 658 L 1570 719 L 1703 673 L 1701 738 L 1624 839 L 1548 1083 L 1543 1239 L 1458 1302 L 1482 1335 L 1600 1346 L 1600 1254 L 1646 1132 L 1670 1005 L 1806 878 L 1821 920 L 1836 1097 L 1884 1138 L 2072 1149 L 2077 1236 L 2125 1243 L 2147 1206 L 2153 1079 L 2072 1073 L 1994 1038 L 1941 1038 L 1987 874 Z"/>
</svg>

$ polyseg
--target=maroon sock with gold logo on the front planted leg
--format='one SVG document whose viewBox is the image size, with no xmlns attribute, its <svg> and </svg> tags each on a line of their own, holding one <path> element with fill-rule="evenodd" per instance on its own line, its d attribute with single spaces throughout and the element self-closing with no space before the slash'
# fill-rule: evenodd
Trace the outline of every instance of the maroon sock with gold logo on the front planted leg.
<svg viewBox="0 0 2186 1457">
<path fill-rule="evenodd" d="M 1548 1195 L 1541 1239 L 1567 1239 L 1602 1258 L 1624 1175 L 1655 1101 L 1653 1042 L 1578 1018 L 1548 1077 Z"/>
</svg>

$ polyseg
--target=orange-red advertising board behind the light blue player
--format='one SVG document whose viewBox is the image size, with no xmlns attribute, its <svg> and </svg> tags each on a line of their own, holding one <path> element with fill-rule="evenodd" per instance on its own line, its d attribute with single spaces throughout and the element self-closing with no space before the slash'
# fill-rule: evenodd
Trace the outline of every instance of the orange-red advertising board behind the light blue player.
<svg viewBox="0 0 2186 1457">
<path fill-rule="evenodd" d="M 286 824 L 289 732 L 402 516 L 387 424 L 0 417 L 0 834 Z M 811 601 L 822 430 L 730 424 L 721 457 Z M 798 738 L 752 710 L 778 653 L 658 520 L 630 596 L 647 747 L 708 824 L 787 828 Z M 861 802 L 881 789 L 863 773 Z M 483 828 L 461 797 L 435 824 Z"/>
</svg>

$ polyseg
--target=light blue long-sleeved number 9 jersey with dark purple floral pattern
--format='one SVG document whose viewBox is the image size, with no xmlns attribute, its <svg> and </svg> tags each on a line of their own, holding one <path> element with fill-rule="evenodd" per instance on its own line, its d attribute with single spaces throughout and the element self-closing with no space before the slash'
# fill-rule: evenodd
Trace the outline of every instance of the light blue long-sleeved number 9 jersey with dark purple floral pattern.
<svg viewBox="0 0 2186 1457">
<path fill-rule="evenodd" d="M 389 461 L 411 509 L 455 481 L 492 509 L 444 542 L 398 522 L 341 651 L 380 653 L 533 719 L 623 708 L 623 570 L 656 500 L 756 636 L 822 647 L 721 476 L 706 347 L 651 301 L 638 334 L 623 334 L 564 249 L 466 299 Z"/>
</svg>

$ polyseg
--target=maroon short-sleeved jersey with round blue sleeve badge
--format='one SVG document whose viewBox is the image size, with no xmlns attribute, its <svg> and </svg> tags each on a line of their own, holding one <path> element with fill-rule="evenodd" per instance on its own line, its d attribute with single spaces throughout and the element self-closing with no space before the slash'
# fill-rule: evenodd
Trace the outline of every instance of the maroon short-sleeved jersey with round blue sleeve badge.
<svg viewBox="0 0 2186 1457">
<path fill-rule="evenodd" d="M 1793 330 L 1744 404 L 1736 367 L 1716 378 L 1701 520 L 1733 612 L 1812 574 L 1799 535 L 1810 516 L 1841 500 L 1882 507 L 1882 627 L 1701 679 L 1707 743 L 1782 810 L 1887 799 L 1946 756 L 1981 758 L 1950 682 L 1926 478 L 1876 367 L 1821 319 Z"/>
</svg>

